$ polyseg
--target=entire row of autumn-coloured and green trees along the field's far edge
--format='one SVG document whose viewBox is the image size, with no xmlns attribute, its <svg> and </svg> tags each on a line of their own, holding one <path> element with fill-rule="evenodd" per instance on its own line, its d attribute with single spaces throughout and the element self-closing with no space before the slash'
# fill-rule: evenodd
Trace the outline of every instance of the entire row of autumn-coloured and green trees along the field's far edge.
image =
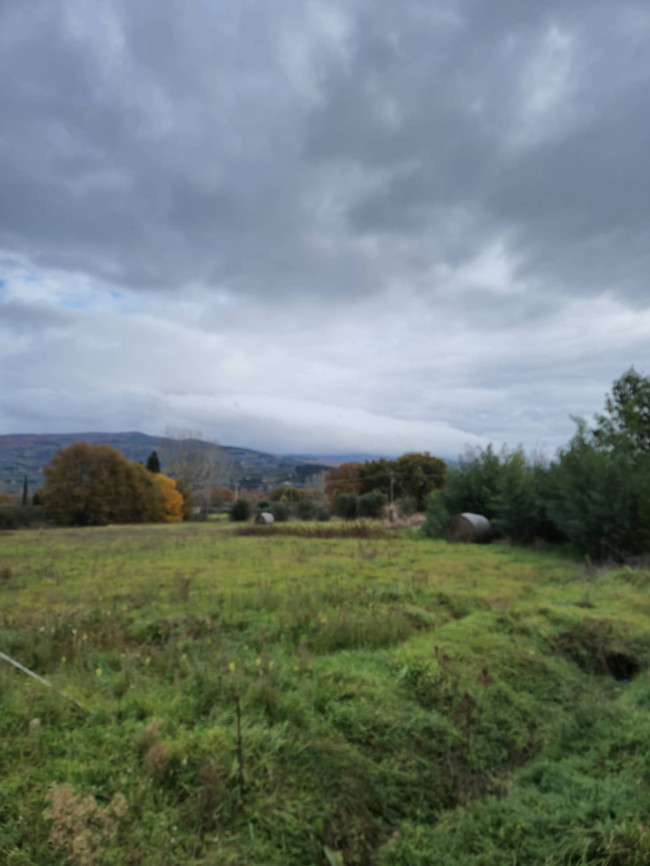
<svg viewBox="0 0 650 866">
<path fill-rule="evenodd" d="M 330 511 L 355 519 L 380 517 L 387 505 L 398 505 L 407 514 L 426 510 L 424 531 L 434 537 L 450 515 L 469 511 L 485 515 L 497 533 L 516 543 L 568 542 L 594 559 L 647 553 L 650 379 L 628 370 L 591 425 L 575 420 L 574 436 L 550 462 L 521 448 L 497 451 L 491 445 L 467 452 L 457 466 L 428 451 L 409 452 L 395 460 L 343 463 L 326 474 L 320 498 L 283 487 L 266 494 L 258 510 L 264 506 L 278 520 L 328 519 Z M 155 452 L 143 466 L 109 445 L 74 443 L 44 469 L 38 501 L 61 525 L 187 519 L 193 497 L 202 501 L 212 489 L 206 482 L 219 478 L 193 441 L 179 442 L 170 458 L 173 478 L 161 472 Z M 232 497 L 226 488 L 214 489 L 228 493 L 224 503 Z M 235 505 L 234 519 L 252 512 Z"/>
</svg>

